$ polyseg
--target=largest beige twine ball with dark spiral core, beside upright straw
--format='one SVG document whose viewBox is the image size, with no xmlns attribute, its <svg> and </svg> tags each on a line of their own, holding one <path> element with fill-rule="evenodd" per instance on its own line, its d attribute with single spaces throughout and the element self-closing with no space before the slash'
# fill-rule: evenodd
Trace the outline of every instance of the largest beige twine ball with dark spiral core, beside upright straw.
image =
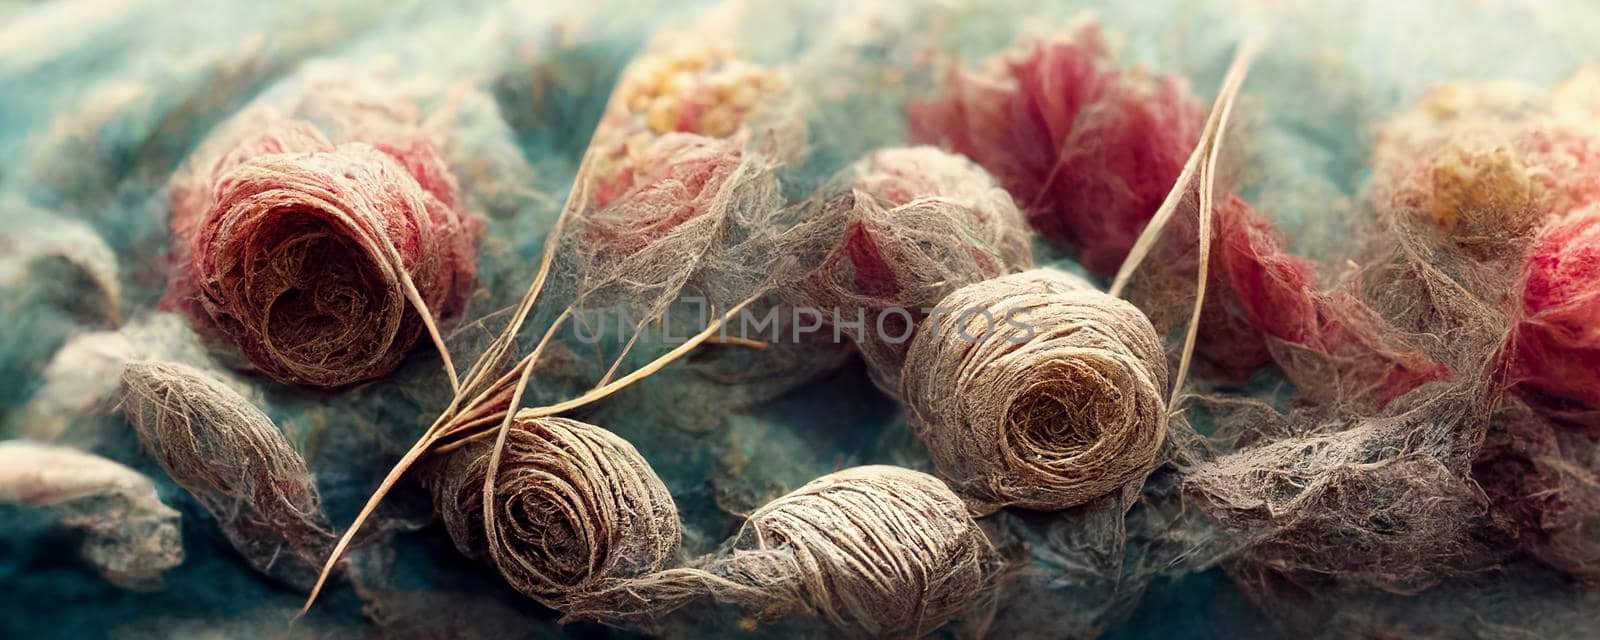
<svg viewBox="0 0 1600 640">
<path fill-rule="evenodd" d="M 978 514 L 1059 510 L 1141 482 L 1166 435 L 1149 318 L 1070 274 L 968 285 L 917 328 L 901 397 L 939 475 Z"/>
</svg>

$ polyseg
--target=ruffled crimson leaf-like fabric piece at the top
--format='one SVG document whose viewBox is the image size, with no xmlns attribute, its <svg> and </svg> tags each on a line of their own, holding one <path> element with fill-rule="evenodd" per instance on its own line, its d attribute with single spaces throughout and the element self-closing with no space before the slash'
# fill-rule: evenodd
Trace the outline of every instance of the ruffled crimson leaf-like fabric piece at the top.
<svg viewBox="0 0 1600 640">
<path fill-rule="evenodd" d="M 954 70 L 909 107 L 912 139 L 987 168 L 1029 224 L 1110 275 L 1160 208 L 1200 136 L 1200 102 L 1178 77 L 1125 72 L 1099 26 Z"/>
</svg>

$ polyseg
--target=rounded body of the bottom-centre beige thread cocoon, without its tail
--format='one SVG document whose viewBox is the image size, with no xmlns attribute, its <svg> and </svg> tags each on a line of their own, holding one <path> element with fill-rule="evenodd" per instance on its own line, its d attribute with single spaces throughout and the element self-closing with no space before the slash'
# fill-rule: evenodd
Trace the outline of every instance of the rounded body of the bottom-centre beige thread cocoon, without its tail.
<svg viewBox="0 0 1600 640">
<path fill-rule="evenodd" d="M 994 606 L 994 544 L 942 480 L 910 469 L 816 478 L 752 514 L 739 539 L 757 550 L 726 560 L 738 573 L 787 576 L 842 630 L 922 637 Z"/>
</svg>

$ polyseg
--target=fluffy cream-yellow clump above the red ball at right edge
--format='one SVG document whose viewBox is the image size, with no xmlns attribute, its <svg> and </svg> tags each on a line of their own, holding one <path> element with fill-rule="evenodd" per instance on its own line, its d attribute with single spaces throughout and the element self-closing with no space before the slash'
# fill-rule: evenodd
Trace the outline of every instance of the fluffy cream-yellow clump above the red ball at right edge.
<svg viewBox="0 0 1600 640">
<path fill-rule="evenodd" d="M 1600 200 L 1600 136 L 1587 67 L 1549 93 L 1510 83 L 1445 83 L 1379 130 L 1374 203 L 1493 258 L 1539 224 Z"/>
</svg>

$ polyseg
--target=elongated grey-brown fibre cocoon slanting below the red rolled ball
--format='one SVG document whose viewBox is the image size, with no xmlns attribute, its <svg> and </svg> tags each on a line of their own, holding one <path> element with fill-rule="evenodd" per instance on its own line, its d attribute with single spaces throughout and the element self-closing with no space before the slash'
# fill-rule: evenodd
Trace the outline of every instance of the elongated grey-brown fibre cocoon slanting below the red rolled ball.
<svg viewBox="0 0 1600 640">
<path fill-rule="evenodd" d="M 306 589 L 333 530 L 306 459 L 261 410 L 206 373 L 131 362 L 123 411 L 139 443 L 258 571 Z"/>
</svg>

